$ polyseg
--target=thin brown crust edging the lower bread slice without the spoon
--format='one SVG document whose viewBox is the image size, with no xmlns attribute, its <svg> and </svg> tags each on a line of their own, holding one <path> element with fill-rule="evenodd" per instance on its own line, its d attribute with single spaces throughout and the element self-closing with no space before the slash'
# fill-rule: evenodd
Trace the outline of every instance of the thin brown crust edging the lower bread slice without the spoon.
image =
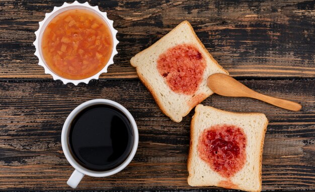
<svg viewBox="0 0 315 192">
<path fill-rule="evenodd" d="M 198 116 L 200 113 L 198 111 L 198 108 L 199 107 L 206 107 L 206 108 L 210 108 L 212 110 L 216 110 L 216 111 L 219 111 L 219 112 L 227 112 L 227 113 L 233 113 L 233 114 L 238 114 L 238 115 L 261 115 L 263 113 L 256 113 L 256 112 L 251 112 L 251 113 L 242 113 L 242 112 L 231 112 L 231 111 L 224 111 L 224 110 L 221 110 L 221 109 L 216 109 L 214 107 L 210 107 L 210 106 L 204 106 L 204 105 L 197 105 L 196 108 L 195 108 L 195 114 L 193 115 L 192 117 L 192 120 L 191 120 L 191 125 L 190 125 L 190 145 L 189 145 L 189 154 L 188 154 L 188 158 L 187 158 L 187 169 L 188 169 L 188 172 L 189 172 L 189 175 L 188 175 L 188 178 L 187 178 L 187 182 L 188 184 L 190 185 L 190 177 L 192 177 L 193 175 L 191 175 L 191 170 L 192 170 L 192 165 L 191 165 L 191 161 L 192 161 L 192 143 L 194 142 L 194 137 L 193 137 L 193 134 L 194 134 L 194 125 L 195 125 L 195 118 L 196 116 Z M 267 119 L 267 118 L 266 118 Z M 237 187 L 233 188 L 233 189 L 240 189 L 240 190 L 244 190 L 244 191 L 250 191 L 250 192 L 259 192 L 262 190 L 262 159 L 263 159 L 263 148 L 264 148 L 264 140 L 265 140 L 265 133 L 267 131 L 267 126 L 268 126 L 268 119 L 267 121 L 265 122 L 264 124 L 264 130 L 262 132 L 263 136 L 262 136 L 262 141 L 261 141 L 261 144 L 260 144 L 260 155 L 259 155 L 259 180 L 260 180 L 260 188 L 258 190 L 248 190 L 247 188 L 243 188 L 243 187 L 240 187 L 239 185 L 235 185 Z M 205 185 L 194 185 L 194 186 L 205 186 Z M 219 187 L 224 187 L 224 188 L 230 188 L 230 185 L 228 185 L 227 183 L 225 182 L 221 182 L 221 183 L 218 183 L 217 185 L 213 185 L 213 186 L 219 186 Z"/>
</svg>

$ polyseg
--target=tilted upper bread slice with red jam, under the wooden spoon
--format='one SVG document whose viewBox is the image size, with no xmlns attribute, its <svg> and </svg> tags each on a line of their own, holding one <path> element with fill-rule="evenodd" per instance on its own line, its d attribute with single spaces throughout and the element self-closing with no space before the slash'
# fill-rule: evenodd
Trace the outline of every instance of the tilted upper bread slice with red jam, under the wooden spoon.
<svg viewBox="0 0 315 192">
<path fill-rule="evenodd" d="M 175 122 L 213 94 L 207 78 L 228 74 L 209 54 L 189 22 L 184 21 L 131 58 L 142 83 L 162 112 Z"/>
</svg>

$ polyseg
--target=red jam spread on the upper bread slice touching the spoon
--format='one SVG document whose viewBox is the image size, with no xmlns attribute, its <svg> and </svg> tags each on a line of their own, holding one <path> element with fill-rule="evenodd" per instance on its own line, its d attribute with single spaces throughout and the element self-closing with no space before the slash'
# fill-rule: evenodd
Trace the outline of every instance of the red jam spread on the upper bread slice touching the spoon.
<svg viewBox="0 0 315 192">
<path fill-rule="evenodd" d="M 162 53 L 157 70 L 176 93 L 192 95 L 202 81 L 206 61 L 194 45 L 181 44 Z"/>
</svg>

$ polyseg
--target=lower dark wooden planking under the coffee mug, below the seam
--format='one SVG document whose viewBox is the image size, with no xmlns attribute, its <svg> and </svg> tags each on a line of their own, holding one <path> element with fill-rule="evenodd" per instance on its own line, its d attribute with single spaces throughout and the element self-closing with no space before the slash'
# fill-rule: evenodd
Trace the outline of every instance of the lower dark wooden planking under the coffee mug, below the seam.
<svg viewBox="0 0 315 192">
<path fill-rule="evenodd" d="M 291 112 L 249 98 L 212 95 L 202 102 L 219 109 L 262 112 L 269 119 L 263 153 L 263 190 L 315 190 L 315 80 L 243 80 L 264 94 L 299 102 Z M 187 184 L 189 126 L 193 111 L 175 123 L 162 114 L 138 79 L 99 80 L 78 86 L 52 80 L 0 82 L 0 190 L 71 190 L 73 168 L 60 143 L 73 108 L 106 98 L 124 105 L 139 129 L 137 153 L 123 171 L 85 176 L 77 190 L 226 190 Z"/>
</svg>

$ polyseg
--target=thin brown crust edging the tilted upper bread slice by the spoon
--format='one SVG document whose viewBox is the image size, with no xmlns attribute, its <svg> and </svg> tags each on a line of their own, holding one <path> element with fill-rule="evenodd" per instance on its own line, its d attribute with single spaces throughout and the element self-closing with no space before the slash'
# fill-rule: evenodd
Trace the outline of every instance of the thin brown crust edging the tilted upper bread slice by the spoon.
<svg viewBox="0 0 315 192">
<path fill-rule="evenodd" d="M 191 32 L 194 34 L 194 36 L 195 36 L 195 38 L 196 38 L 198 44 L 202 47 L 202 49 L 203 49 L 204 52 L 208 55 L 208 57 L 211 59 L 211 61 L 212 61 L 213 63 L 215 63 L 218 68 L 220 68 L 221 70 L 223 70 L 223 71 L 228 75 L 229 73 L 228 73 L 225 69 L 223 69 L 223 67 L 220 66 L 220 65 L 218 64 L 218 62 L 217 62 L 215 59 L 213 59 L 213 57 L 211 56 L 211 54 L 210 54 L 210 53 L 208 52 L 208 50 L 204 47 L 204 45 L 201 43 L 200 39 L 198 38 L 198 36 L 196 35 L 194 29 L 192 28 L 192 26 L 190 25 L 190 23 L 189 23 L 188 21 L 183 21 L 183 22 L 180 23 L 178 26 L 176 26 L 172 31 L 176 30 L 177 28 L 179 28 L 181 25 L 184 25 L 184 24 L 187 24 L 187 25 L 189 26 L 189 28 L 190 28 Z M 164 37 L 167 37 L 172 31 L 170 31 L 170 32 L 169 32 L 168 34 L 166 34 Z M 159 43 L 161 40 L 162 40 L 162 38 L 159 39 L 156 43 Z M 156 44 L 156 43 L 154 43 L 154 44 Z M 148 47 L 148 48 L 146 48 L 146 49 L 144 49 L 143 51 L 139 52 L 138 54 L 141 54 L 141 53 L 143 53 L 143 52 L 149 51 L 150 49 L 152 49 L 151 46 Z M 153 88 L 152 86 L 150 86 L 149 83 L 145 80 L 145 78 L 141 75 L 141 73 L 138 72 L 138 70 L 137 70 L 137 67 L 138 67 L 138 66 L 136 66 L 136 64 L 133 62 L 133 59 L 134 59 L 138 54 L 136 54 L 134 57 L 131 58 L 130 63 L 131 63 L 131 65 L 132 65 L 133 67 L 136 68 L 137 75 L 138 75 L 139 79 L 140 79 L 141 82 L 144 84 L 144 86 L 150 91 L 150 93 L 152 94 L 152 96 L 153 96 L 155 102 L 156 102 L 157 105 L 160 107 L 160 109 L 162 110 L 162 112 L 163 112 L 166 116 L 170 117 L 174 122 L 177 122 L 177 123 L 178 123 L 178 122 L 181 122 L 183 118 L 181 118 L 181 119 L 174 119 L 174 118 L 172 117 L 172 115 L 171 115 L 170 113 L 168 113 L 167 109 L 162 105 L 159 96 L 157 96 L 157 93 L 154 91 L 154 88 Z M 213 93 L 212 93 L 212 94 L 213 94 Z M 200 103 L 201 103 L 203 100 L 205 100 L 207 97 L 209 97 L 210 95 L 212 95 L 212 94 L 204 94 L 204 97 L 200 98 Z M 189 106 L 188 110 L 186 111 L 185 114 L 182 115 L 182 117 L 185 117 L 194 107 L 195 107 L 195 105 Z"/>
</svg>

